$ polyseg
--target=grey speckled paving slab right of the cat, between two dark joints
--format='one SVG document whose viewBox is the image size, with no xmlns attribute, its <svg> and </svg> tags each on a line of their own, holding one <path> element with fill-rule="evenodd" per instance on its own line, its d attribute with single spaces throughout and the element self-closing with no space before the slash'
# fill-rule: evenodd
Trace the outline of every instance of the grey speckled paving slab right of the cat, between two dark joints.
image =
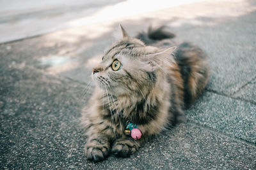
<svg viewBox="0 0 256 170">
<path fill-rule="evenodd" d="M 196 124 L 256 144 L 255 104 L 205 92 L 186 115 Z"/>
</svg>

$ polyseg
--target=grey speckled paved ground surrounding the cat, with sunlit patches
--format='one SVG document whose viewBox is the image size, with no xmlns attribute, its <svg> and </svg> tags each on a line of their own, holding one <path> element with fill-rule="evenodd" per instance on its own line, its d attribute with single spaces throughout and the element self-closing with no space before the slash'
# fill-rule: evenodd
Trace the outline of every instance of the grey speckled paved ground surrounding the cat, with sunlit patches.
<svg viewBox="0 0 256 170">
<path fill-rule="evenodd" d="M 208 53 L 211 80 L 186 124 L 93 163 L 79 125 L 92 89 L 82 94 L 119 22 L 132 35 L 170 26 Z M 255 28 L 255 1 L 204 1 L 1 44 L 1 169 L 256 169 Z"/>
</svg>

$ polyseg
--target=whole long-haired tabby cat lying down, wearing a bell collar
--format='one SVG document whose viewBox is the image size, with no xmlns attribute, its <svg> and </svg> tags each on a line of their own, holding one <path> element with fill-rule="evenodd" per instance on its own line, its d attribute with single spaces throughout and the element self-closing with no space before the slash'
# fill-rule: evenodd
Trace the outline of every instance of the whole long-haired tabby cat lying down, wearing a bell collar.
<svg viewBox="0 0 256 170">
<path fill-rule="evenodd" d="M 129 157 L 148 138 L 186 122 L 184 109 L 209 78 L 207 55 L 191 43 L 175 44 L 165 27 L 135 38 L 120 28 L 122 39 L 93 67 L 97 85 L 82 111 L 85 155 L 96 162 L 109 153 Z"/>
</svg>

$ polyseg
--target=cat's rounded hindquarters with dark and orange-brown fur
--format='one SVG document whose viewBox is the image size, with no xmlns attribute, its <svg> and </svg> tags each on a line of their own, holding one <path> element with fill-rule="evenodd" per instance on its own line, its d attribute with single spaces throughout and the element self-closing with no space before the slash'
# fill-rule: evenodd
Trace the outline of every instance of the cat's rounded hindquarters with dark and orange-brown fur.
<svg viewBox="0 0 256 170">
<path fill-rule="evenodd" d="M 192 43 L 181 43 L 174 55 L 183 79 L 184 104 L 187 108 L 207 85 L 209 63 L 206 53 Z"/>
</svg>

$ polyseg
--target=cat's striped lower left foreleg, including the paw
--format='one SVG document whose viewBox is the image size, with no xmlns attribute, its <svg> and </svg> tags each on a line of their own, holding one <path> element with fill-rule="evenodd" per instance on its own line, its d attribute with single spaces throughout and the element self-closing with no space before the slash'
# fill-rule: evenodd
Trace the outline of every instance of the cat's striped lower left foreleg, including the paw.
<svg viewBox="0 0 256 170">
<path fill-rule="evenodd" d="M 108 136 L 93 134 L 85 145 L 85 155 L 88 160 L 100 161 L 109 155 L 110 143 Z"/>
</svg>

